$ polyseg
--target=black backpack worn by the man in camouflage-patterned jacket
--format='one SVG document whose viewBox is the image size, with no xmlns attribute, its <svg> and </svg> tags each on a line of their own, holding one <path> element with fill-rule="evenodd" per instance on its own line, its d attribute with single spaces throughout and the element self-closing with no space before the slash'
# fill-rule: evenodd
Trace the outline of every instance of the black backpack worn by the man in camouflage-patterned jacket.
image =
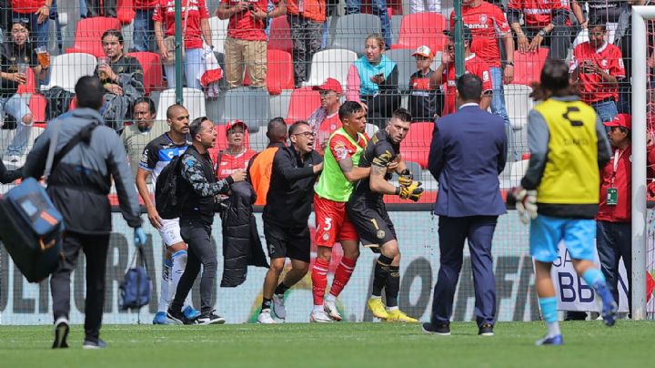
<svg viewBox="0 0 655 368">
<path fill-rule="evenodd" d="M 156 180 L 155 208 L 159 212 L 159 217 L 165 220 L 178 218 L 180 210 L 182 210 L 183 199 L 180 196 L 179 187 L 184 155 L 183 153 L 171 159 Z"/>
</svg>

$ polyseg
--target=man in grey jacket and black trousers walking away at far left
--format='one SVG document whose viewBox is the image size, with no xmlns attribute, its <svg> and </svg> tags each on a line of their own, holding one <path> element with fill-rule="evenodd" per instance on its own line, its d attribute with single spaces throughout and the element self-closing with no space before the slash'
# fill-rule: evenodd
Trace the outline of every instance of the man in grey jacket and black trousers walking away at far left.
<svg viewBox="0 0 655 368">
<path fill-rule="evenodd" d="M 47 193 L 66 226 L 63 257 L 50 279 L 55 315 L 53 348 L 68 344 L 70 274 L 76 268 L 80 250 L 86 255 L 85 349 L 106 347 L 100 339 L 105 305 L 106 255 L 111 234 L 111 208 L 107 195 L 116 184 L 118 201 L 127 225 L 135 230 L 135 245 L 146 243 L 134 178 L 127 166 L 126 151 L 112 128 L 105 126 L 98 112 L 103 104 L 103 87 L 97 77 L 82 77 L 76 84 L 77 108 L 65 118 L 55 118 L 36 140 L 27 156 L 25 178 L 40 179 L 50 141 L 56 135 L 60 152 L 74 138 L 80 142 L 55 162 L 48 179 Z M 89 216 L 88 209 L 93 209 Z"/>
</svg>

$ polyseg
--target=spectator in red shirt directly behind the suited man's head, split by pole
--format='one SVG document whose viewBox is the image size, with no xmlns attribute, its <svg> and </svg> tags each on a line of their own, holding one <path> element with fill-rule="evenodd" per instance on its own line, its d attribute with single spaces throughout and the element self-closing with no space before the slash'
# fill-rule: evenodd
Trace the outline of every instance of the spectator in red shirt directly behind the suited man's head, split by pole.
<svg viewBox="0 0 655 368">
<path fill-rule="evenodd" d="M 466 73 L 474 74 L 482 80 L 482 99 L 479 107 L 483 110 L 489 108 L 491 102 L 491 76 L 489 66 L 481 58 L 471 53 L 470 46 L 473 42 L 473 35 L 469 27 L 462 27 L 462 41 L 464 43 L 464 66 Z M 455 77 L 455 40 L 454 34 L 444 31 L 448 36 L 448 45 L 446 50 L 441 54 L 441 65 L 438 66 L 435 73 L 430 77 L 430 87 L 438 88 L 441 86 L 444 93 L 443 111 L 441 116 L 444 117 L 452 114 L 457 110 L 455 106 L 457 78 Z"/>
</svg>

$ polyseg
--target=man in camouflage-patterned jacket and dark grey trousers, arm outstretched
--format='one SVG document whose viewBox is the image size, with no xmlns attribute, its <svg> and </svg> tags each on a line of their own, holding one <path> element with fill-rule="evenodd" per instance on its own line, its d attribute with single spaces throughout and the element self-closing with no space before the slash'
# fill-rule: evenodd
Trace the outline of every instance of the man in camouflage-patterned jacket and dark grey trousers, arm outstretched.
<svg viewBox="0 0 655 368">
<path fill-rule="evenodd" d="M 214 164 L 209 157 L 208 148 L 214 147 L 216 130 L 214 123 L 207 117 L 196 118 L 189 125 L 189 136 L 193 139 L 192 146 L 186 148 L 182 159 L 180 175 L 180 193 L 185 193 L 180 199 L 179 224 L 182 240 L 188 244 L 186 268 L 177 283 L 175 299 L 168 307 L 167 317 L 174 322 L 184 324 L 186 317 L 182 305 L 196 281 L 200 265 L 203 273 L 200 279 L 200 316 L 198 324 L 225 323 L 225 318 L 214 313 L 211 299 L 217 272 L 217 252 L 211 243 L 211 225 L 214 222 L 214 208 L 217 194 L 227 194 L 230 185 L 246 179 L 246 171 L 235 170 L 231 176 L 217 181 L 214 175 Z"/>
</svg>

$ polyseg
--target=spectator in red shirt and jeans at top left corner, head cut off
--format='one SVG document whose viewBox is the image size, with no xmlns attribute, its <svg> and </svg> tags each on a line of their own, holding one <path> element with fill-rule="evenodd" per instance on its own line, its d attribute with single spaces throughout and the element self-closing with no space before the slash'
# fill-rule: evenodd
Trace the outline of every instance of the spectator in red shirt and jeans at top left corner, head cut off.
<svg viewBox="0 0 655 368">
<path fill-rule="evenodd" d="M 52 0 L 11 0 L 12 18 L 9 24 L 21 22 L 29 25 L 36 46 L 47 46 L 51 5 Z"/>
</svg>

